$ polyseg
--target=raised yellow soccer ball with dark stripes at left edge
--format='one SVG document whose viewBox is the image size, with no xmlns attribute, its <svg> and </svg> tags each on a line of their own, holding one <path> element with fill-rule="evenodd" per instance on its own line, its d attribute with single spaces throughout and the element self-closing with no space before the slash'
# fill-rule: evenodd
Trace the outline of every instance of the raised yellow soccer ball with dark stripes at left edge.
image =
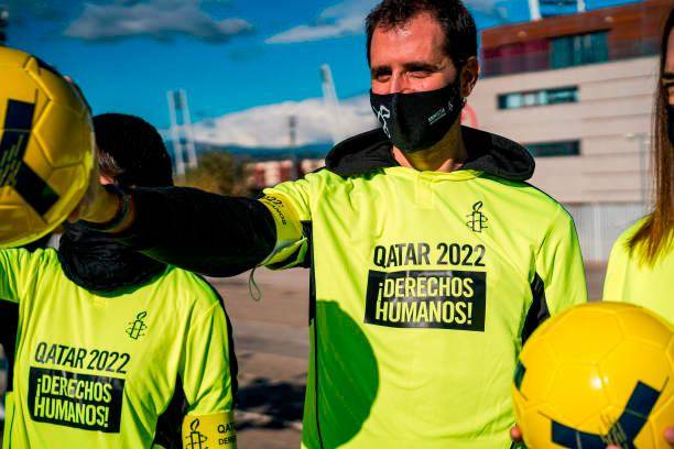
<svg viewBox="0 0 674 449">
<path fill-rule="evenodd" d="M 80 95 L 41 61 L 0 46 L 0 248 L 61 225 L 84 196 L 93 163 Z"/>
</svg>

